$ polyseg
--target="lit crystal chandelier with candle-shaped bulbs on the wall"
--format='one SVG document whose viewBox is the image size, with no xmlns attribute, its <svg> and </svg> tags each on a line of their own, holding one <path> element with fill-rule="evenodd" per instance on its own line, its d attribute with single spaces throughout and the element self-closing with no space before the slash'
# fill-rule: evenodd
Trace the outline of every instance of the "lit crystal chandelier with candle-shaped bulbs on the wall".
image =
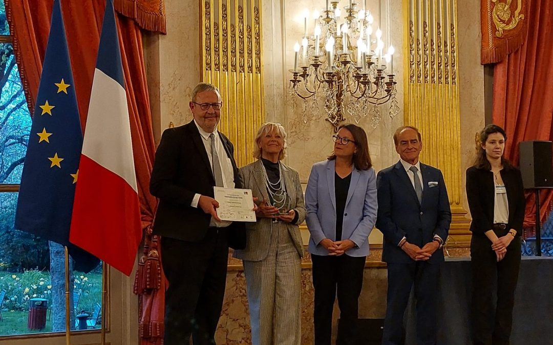
<svg viewBox="0 0 553 345">
<path fill-rule="evenodd" d="M 349 0 L 343 8 L 345 17 L 340 21 L 340 0 L 326 0 L 326 9 L 315 12 L 314 34 L 307 34 L 307 17 L 304 11 L 304 36 L 300 45 L 294 46 L 294 69 L 289 83 L 292 106 L 302 100 L 304 123 L 310 114 L 318 112 L 318 100 L 324 98 L 326 120 L 335 131 L 348 117 L 359 123 L 371 113 L 371 123 L 376 128 L 380 122 L 380 105 L 389 102 L 391 118 L 399 113 L 397 90 L 394 81 L 394 47 L 384 54 L 382 31 L 375 31 L 373 40 L 373 16 L 358 1 Z M 354 43 L 357 43 L 354 45 Z M 324 50 L 323 50 L 324 47 Z"/>
</svg>

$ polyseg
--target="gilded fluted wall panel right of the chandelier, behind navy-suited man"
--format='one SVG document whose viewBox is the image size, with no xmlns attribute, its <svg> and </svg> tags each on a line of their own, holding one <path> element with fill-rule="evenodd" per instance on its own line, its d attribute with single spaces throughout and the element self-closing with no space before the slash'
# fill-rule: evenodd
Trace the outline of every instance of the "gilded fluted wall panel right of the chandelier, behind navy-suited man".
<svg viewBox="0 0 553 345">
<path fill-rule="evenodd" d="M 461 133 L 457 66 L 457 0 L 403 0 L 405 23 L 405 124 L 422 133 L 421 161 L 444 173 L 453 222 L 466 236 L 461 205 Z M 463 238 L 466 241 L 466 237 Z"/>
</svg>

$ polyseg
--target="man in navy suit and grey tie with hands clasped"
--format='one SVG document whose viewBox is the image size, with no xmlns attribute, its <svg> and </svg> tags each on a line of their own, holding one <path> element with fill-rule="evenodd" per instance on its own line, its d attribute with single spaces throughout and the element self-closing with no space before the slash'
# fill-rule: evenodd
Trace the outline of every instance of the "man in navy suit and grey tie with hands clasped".
<svg viewBox="0 0 553 345">
<path fill-rule="evenodd" d="M 382 344 L 404 343 L 403 315 L 415 286 L 417 344 L 435 345 L 438 275 L 451 223 L 449 199 L 441 171 L 419 162 L 419 130 L 400 127 L 394 144 L 401 159 L 377 177 L 376 226 L 384 235 L 382 261 L 388 264 Z"/>
</svg>

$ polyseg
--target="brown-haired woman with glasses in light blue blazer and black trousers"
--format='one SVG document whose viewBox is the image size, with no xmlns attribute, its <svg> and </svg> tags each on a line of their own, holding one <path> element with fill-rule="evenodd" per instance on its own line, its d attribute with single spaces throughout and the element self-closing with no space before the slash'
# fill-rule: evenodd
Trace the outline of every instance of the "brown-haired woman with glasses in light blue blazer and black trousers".
<svg viewBox="0 0 553 345">
<path fill-rule="evenodd" d="M 367 134 L 342 125 L 334 151 L 311 168 L 305 191 L 315 289 L 315 345 L 330 345 L 336 295 L 346 326 L 339 343 L 354 344 L 368 237 L 377 219 L 377 184 Z"/>
</svg>

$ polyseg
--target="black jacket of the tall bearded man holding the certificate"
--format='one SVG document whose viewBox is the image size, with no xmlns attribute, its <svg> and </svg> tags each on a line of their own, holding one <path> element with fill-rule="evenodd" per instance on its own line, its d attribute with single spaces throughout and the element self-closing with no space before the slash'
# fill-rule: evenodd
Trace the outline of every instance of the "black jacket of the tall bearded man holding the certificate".
<svg viewBox="0 0 553 345">
<path fill-rule="evenodd" d="M 242 188 L 232 143 L 221 132 L 218 133 L 227 157 L 232 162 L 234 187 Z M 211 215 L 190 204 L 196 193 L 213 198 L 213 186 L 215 178 L 194 121 L 166 129 L 155 153 L 150 180 L 150 193 L 159 198 L 154 234 L 183 241 L 201 241 L 206 235 Z M 233 222 L 227 229 L 229 246 L 234 249 L 245 248 L 246 230 L 243 222 Z"/>
</svg>

